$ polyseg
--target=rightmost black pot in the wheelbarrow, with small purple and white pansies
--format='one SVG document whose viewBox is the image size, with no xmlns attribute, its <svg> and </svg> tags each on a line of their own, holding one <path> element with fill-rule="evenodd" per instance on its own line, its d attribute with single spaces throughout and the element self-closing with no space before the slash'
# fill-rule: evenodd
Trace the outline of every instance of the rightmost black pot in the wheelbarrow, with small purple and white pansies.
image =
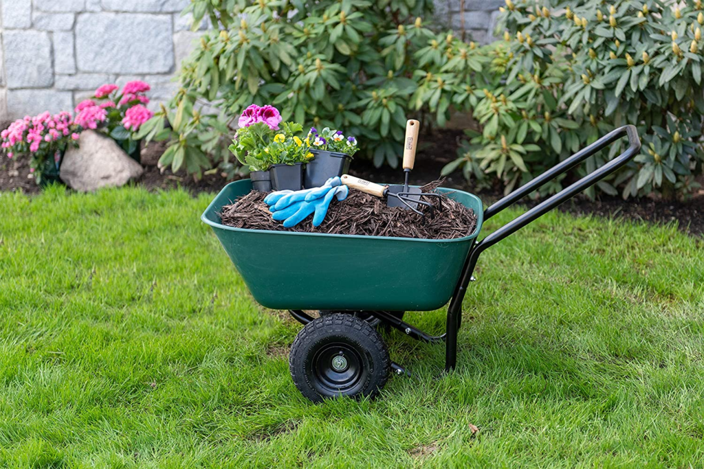
<svg viewBox="0 0 704 469">
<path fill-rule="evenodd" d="M 344 136 L 341 130 L 329 127 L 320 133 L 311 127 L 306 137 L 310 141 L 313 160 L 306 165 L 306 187 L 320 187 L 329 177 L 341 176 L 348 172 L 353 155 L 357 152 L 357 139 Z"/>
</svg>

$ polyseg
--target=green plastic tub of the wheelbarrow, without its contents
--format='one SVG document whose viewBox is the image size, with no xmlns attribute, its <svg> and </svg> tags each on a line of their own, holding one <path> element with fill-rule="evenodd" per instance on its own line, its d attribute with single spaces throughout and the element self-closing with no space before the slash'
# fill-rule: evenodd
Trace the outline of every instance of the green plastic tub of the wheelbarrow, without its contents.
<svg viewBox="0 0 704 469">
<path fill-rule="evenodd" d="M 251 191 L 227 184 L 201 220 L 213 227 L 254 299 L 271 309 L 432 311 L 450 300 L 482 229 L 476 195 L 439 188 L 477 214 L 474 233 L 452 240 L 240 229 L 219 213 Z M 306 221 L 310 223 L 310 221 Z"/>
</svg>

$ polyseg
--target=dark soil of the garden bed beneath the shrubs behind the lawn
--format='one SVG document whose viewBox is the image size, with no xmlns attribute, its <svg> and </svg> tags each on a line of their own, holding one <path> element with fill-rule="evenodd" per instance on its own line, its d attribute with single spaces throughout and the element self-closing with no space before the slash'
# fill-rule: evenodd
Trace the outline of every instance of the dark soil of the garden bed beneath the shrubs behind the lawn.
<svg viewBox="0 0 704 469">
<path fill-rule="evenodd" d="M 4 126 L 0 125 L 0 129 Z M 432 144 L 420 143 L 416 158 L 415 169 L 411 173 L 411 184 L 422 185 L 427 181 L 438 179 L 444 165 L 457 156 L 458 143 L 461 141 L 461 131 L 439 131 Z M 425 138 L 423 140 L 427 140 Z M 182 187 L 191 193 L 211 192 L 217 193 L 222 186 L 227 184 L 221 174 L 203 176 L 199 181 L 194 181 L 185 174 L 173 174 L 170 170 L 161 172 L 156 163 L 164 150 L 163 143 L 150 143 L 142 148 L 142 164 L 144 175 L 138 184 L 153 189 L 169 189 Z M 356 158 L 353 162 L 351 174 L 375 182 L 398 184 L 403 182 L 403 169 L 391 167 L 375 168 L 368 160 Z M 698 182 L 704 186 L 704 177 Z M 463 191 L 476 193 L 485 204 L 490 204 L 502 195 L 502 188 L 496 186 L 491 189 L 477 191 L 467 184 L 461 172 L 450 174 L 445 187 L 458 188 Z M 30 168 L 25 158 L 20 160 L 0 161 L 0 191 L 23 191 L 25 193 L 39 193 L 39 188 L 30 176 Z M 522 205 L 532 207 L 539 203 L 536 200 L 523 200 Z M 704 235 L 704 188 L 685 202 L 677 200 L 661 200 L 657 198 L 641 198 L 622 200 L 619 197 L 601 195 L 598 200 L 589 200 L 584 195 L 564 203 L 559 210 L 572 214 L 595 214 L 599 217 L 617 217 L 650 223 L 670 223 L 677 221 L 679 229 L 694 235 Z"/>
</svg>

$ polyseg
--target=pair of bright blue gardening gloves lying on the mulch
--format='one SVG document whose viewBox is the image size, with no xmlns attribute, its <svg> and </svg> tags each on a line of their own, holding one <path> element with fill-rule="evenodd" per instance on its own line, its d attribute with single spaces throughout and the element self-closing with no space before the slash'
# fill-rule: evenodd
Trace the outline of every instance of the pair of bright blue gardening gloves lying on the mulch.
<svg viewBox="0 0 704 469">
<path fill-rule="evenodd" d="M 296 226 L 312 213 L 313 226 L 320 226 L 325 220 L 332 199 L 345 200 L 348 193 L 349 188 L 336 176 L 325 181 L 320 187 L 302 191 L 272 192 L 264 198 L 264 202 L 273 212 L 272 218 L 284 221 L 286 228 Z"/>
</svg>

